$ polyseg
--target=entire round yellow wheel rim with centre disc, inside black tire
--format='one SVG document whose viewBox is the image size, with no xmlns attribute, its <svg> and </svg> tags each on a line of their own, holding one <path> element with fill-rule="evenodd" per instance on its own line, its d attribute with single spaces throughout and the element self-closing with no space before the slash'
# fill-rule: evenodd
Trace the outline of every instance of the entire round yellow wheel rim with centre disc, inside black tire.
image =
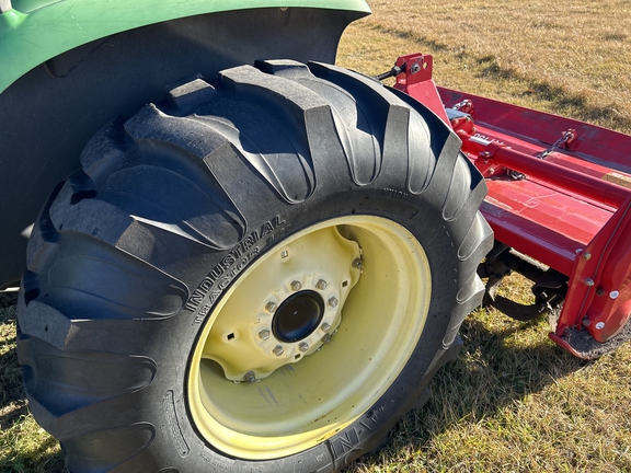
<svg viewBox="0 0 631 473">
<path fill-rule="evenodd" d="M 425 252 L 391 220 L 349 216 L 294 234 L 208 315 L 187 381 L 195 426 L 242 459 L 287 457 L 326 440 L 403 370 L 431 292 Z"/>
</svg>

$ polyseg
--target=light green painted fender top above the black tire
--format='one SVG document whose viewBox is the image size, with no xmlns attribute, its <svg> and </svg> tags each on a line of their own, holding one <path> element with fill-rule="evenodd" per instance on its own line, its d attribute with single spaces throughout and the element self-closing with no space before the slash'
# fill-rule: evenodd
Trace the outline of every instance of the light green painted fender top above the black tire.
<svg viewBox="0 0 631 473">
<path fill-rule="evenodd" d="M 0 92 L 34 67 L 85 43 L 153 23 L 255 8 L 369 13 L 365 0 L 13 0 L 0 14 Z"/>
</svg>

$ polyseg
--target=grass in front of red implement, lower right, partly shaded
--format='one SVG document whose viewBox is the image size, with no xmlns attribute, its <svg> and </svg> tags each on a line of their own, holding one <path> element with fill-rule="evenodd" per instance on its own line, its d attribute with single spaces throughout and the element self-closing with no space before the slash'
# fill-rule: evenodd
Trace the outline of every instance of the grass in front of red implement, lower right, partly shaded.
<svg viewBox="0 0 631 473">
<path fill-rule="evenodd" d="M 478 310 L 429 403 L 346 473 L 630 472 L 631 347 L 588 362 L 547 333 Z"/>
</svg>

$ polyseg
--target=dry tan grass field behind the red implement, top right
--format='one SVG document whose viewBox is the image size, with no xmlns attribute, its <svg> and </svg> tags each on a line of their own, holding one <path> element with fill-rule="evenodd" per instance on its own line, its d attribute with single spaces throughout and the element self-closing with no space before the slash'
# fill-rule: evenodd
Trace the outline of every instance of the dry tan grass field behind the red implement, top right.
<svg viewBox="0 0 631 473">
<path fill-rule="evenodd" d="M 339 61 L 378 73 L 408 53 L 439 85 L 631 131 L 631 2 L 377 0 Z"/>
</svg>

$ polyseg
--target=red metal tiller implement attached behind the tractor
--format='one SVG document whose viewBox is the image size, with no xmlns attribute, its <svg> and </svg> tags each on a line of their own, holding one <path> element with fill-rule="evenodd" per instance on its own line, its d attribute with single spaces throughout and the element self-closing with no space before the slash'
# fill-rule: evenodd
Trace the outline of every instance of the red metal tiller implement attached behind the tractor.
<svg viewBox="0 0 631 473">
<path fill-rule="evenodd" d="M 435 88 L 428 56 L 397 66 L 406 72 L 394 88 L 446 119 L 486 178 L 481 211 L 495 239 L 565 276 L 550 337 L 582 358 L 630 339 L 631 137 Z"/>
</svg>

